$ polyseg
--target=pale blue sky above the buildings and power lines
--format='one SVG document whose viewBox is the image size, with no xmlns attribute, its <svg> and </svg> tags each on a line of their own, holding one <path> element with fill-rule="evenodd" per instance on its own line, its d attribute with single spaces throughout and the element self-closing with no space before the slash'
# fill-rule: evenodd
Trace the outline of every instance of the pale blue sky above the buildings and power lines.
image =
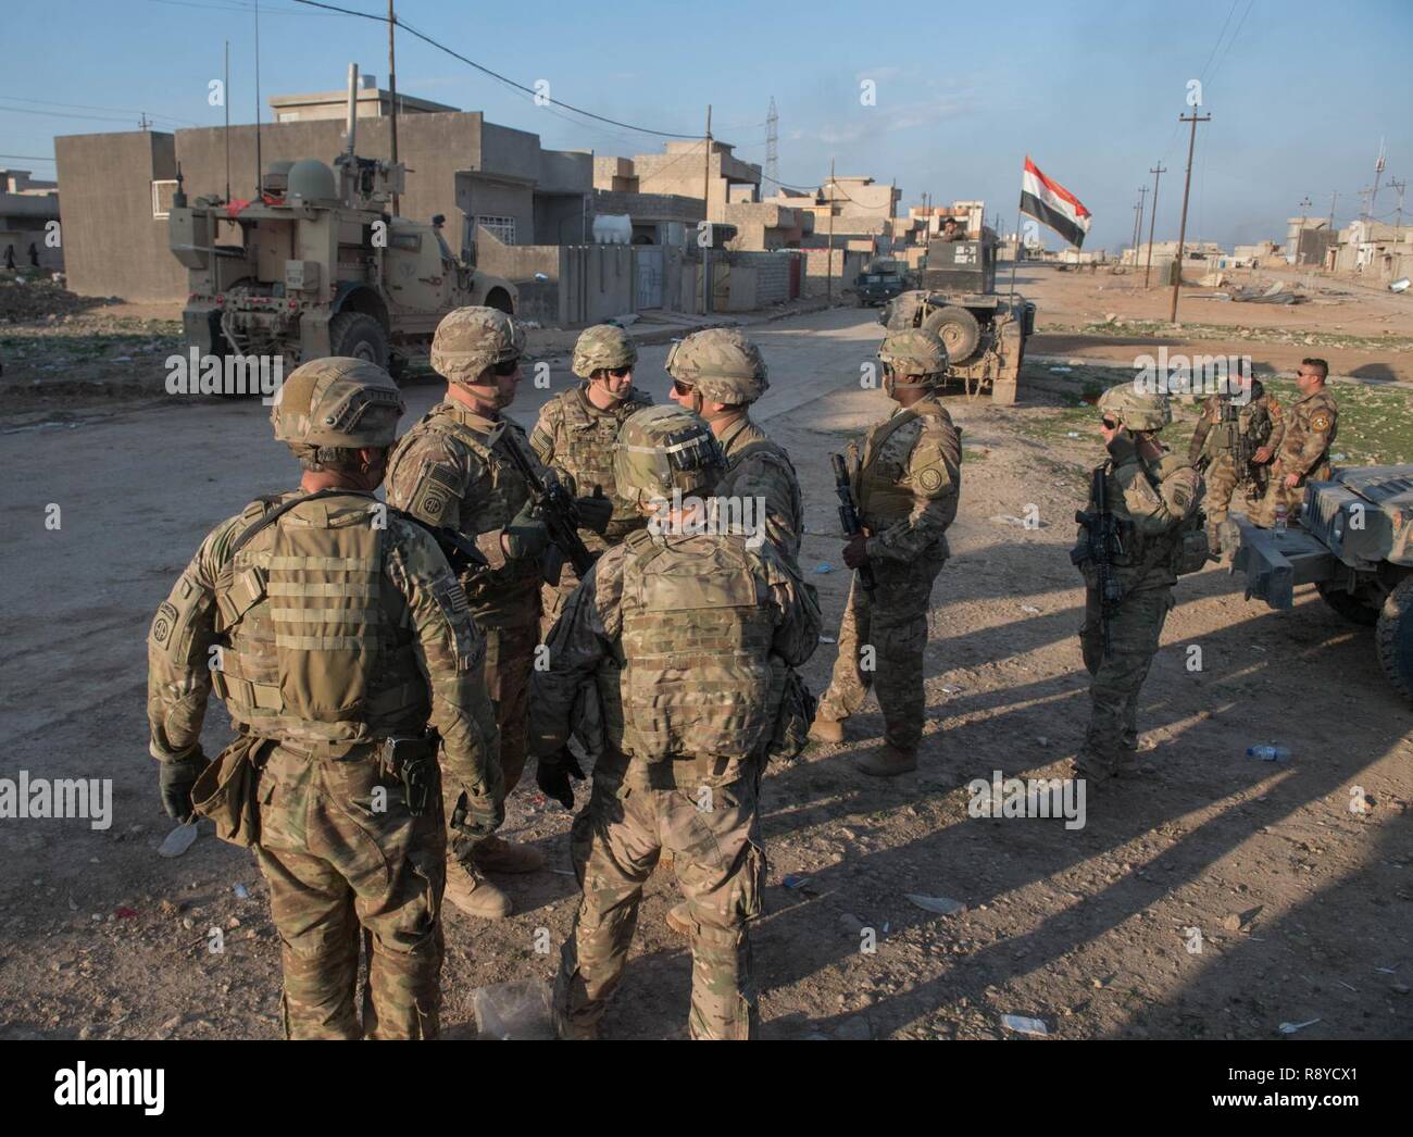
<svg viewBox="0 0 1413 1137">
<path fill-rule="evenodd" d="M 332 1 L 386 16 L 379 0 Z M 227 40 L 232 121 L 254 120 L 254 0 L 7 7 L 0 165 L 52 177 L 52 161 L 34 158 L 52 158 L 55 134 L 131 130 L 140 112 L 154 129 L 219 126 L 225 112 L 208 93 Z M 1012 229 L 1029 154 L 1094 213 L 1087 249 L 1129 243 L 1154 164 L 1166 167 L 1156 237 L 1177 237 L 1190 131 L 1177 119 L 1198 95 L 1198 113 L 1212 117 L 1197 127 L 1190 240 L 1283 242 L 1287 218 L 1327 216 L 1335 192 L 1337 225 L 1348 223 L 1381 137 L 1382 185 L 1413 172 L 1407 0 L 907 7 L 397 0 L 408 27 L 632 127 L 701 137 L 711 105 L 714 136 L 746 161 L 764 162 L 774 97 L 780 178 L 796 186 L 825 182 L 832 160 L 839 177 L 896 178 L 904 208 L 924 192 L 942 203 L 983 199 L 988 218 Z M 386 86 L 384 23 L 295 0 L 260 0 L 260 13 L 263 99 L 342 88 L 350 61 Z M 482 110 L 551 148 L 630 157 L 666 141 L 536 106 L 406 30 L 397 86 Z M 1382 188 L 1375 215 L 1392 222 L 1396 198 Z M 1407 206 L 1413 215 L 1413 196 Z M 1047 243 L 1060 244 L 1053 234 Z"/>
</svg>

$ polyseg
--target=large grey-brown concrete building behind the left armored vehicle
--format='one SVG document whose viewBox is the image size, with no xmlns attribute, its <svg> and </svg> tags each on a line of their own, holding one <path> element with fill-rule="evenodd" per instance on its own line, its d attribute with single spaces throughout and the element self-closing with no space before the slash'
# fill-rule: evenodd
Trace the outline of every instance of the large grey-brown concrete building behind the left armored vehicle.
<svg viewBox="0 0 1413 1137">
<path fill-rule="evenodd" d="M 391 153 L 387 92 L 359 95 L 357 153 Z M 346 109 L 346 92 L 338 96 Z M 260 129 L 261 158 L 332 161 L 343 148 L 343 113 L 322 112 L 333 93 L 271 96 L 271 107 L 307 119 Z M 398 105 L 404 100 L 398 95 Z M 437 103 L 415 100 L 424 107 Z M 365 116 L 365 103 L 369 107 Z M 454 249 L 475 247 L 478 229 L 503 244 L 585 240 L 593 186 L 592 151 L 544 150 L 537 134 L 487 123 L 480 112 L 418 110 L 398 117 L 398 158 L 408 168 L 403 216 L 447 216 Z M 256 127 L 252 124 L 162 131 L 73 134 L 55 138 L 62 188 L 64 247 L 69 287 L 88 295 L 172 301 L 187 295 L 187 273 L 167 246 L 167 208 L 178 165 L 191 198 L 256 195 Z"/>
</svg>

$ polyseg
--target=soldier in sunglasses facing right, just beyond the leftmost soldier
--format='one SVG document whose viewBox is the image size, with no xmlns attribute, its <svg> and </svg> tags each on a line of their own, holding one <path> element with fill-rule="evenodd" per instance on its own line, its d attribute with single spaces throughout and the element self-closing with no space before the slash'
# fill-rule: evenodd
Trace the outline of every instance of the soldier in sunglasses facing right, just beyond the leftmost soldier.
<svg viewBox="0 0 1413 1137">
<path fill-rule="evenodd" d="M 500 727 L 500 768 L 509 795 L 526 761 L 530 669 L 540 640 L 541 555 L 550 534 L 530 487 L 507 456 L 514 446 L 543 473 L 524 431 L 502 412 L 520 384 L 524 331 L 495 308 L 458 308 L 437 326 L 432 369 L 447 397 L 398 441 L 387 470 L 387 500 L 430 525 L 475 541 L 486 565 L 462 575 L 471 614 L 486 636 L 486 684 Z M 586 521 L 606 524 L 612 503 L 579 499 Z M 601 510 L 602 507 L 602 510 Z M 452 802 L 448 799 L 448 814 Z M 469 915 L 502 919 L 510 897 L 482 871 L 533 873 L 544 855 L 486 836 L 452 832 L 447 900 Z"/>
</svg>

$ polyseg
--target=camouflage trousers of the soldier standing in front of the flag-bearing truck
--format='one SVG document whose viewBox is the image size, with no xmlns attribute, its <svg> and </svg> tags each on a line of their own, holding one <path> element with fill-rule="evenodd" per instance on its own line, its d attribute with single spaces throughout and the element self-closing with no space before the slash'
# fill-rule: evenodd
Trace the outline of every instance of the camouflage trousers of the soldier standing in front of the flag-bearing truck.
<svg viewBox="0 0 1413 1137">
<path fill-rule="evenodd" d="M 839 624 L 839 655 L 834 661 L 829 689 L 820 701 L 820 712 L 827 719 L 856 715 L 869 688 L 876 686 L 883 739 L 899 750 L 917 750 L 927 712 L 923 689 L 927 612 L 933 582 L 945 561 L 941 551 L 911 562 L 877 558 L 872 561 L 877 582 L 873 596 L 863 590 L 855 573 Z"/>
</svg>

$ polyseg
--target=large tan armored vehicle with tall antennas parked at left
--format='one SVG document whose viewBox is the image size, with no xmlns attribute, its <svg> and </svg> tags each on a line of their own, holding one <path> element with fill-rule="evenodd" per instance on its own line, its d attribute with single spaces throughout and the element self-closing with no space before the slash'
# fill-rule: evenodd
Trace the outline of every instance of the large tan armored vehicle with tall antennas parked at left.
<svg viewBox="0 0 1413 1137">
<path fill-rule="evenodd" d="M 390 212 L 404 192 L 398 164 L 348 148 L 333 167 L 274 162 L 257 201 L 196 198 L 178 189 L 170 244 L 189 271 L 182 328 L 202 355 L 280 355 L 288 373 L 321 356 L 355 356 L 401 371 L 431 343 L 452 308 L 513 314 L 517 290 L 452 256 L 432 225 Z"/>
</svg>

